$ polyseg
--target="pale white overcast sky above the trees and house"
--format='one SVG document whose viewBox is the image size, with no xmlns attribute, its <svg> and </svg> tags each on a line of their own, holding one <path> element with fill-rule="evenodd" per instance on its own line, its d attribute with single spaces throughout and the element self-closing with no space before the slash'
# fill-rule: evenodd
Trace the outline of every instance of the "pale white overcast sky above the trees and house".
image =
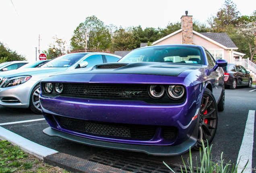
<svg viewBox="0 0 256 173">
<path fill-rule="evenodd" d="M 233 0 L 241 15 L 252 15 L 256 0 Z M 105 25 L 123 28 L 165 28 L 180 22 L 188 11 L 193 20 L 206 23 L 225 0 L 0 0 L 0 42 L 28 61 L 54 43 L 53 36 L 68 43 L 76 27 L 95 15 Z M 36 55 L 37 48 L 37 55 Z"/>
</svg>

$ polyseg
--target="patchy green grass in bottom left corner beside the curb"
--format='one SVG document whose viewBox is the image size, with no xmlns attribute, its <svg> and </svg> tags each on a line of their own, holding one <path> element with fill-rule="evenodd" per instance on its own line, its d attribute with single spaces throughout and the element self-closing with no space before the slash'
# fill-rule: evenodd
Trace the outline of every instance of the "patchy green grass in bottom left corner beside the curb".
<svg viewBox="0 0 256 173">
<path fill-rule="evenodd" d="M 8 141 L 0 141 L 0 173 L 68 173 L 25 153 Z"/>
</svg>

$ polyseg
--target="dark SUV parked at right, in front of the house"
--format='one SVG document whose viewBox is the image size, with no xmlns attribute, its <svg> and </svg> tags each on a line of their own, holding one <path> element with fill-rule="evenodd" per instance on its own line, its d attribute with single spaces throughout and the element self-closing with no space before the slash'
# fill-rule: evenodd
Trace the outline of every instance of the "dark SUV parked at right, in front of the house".
<svg viewBox="0 0 256 173">
<path fill-rule="evenodd" d="M 222 67 L 225 72 L 225 86 L 230 89 L 236 89 L 237 86 L 252 86 L 252 77 L 243 66 L 237 64 L 228 64 Z"/>
</svg>

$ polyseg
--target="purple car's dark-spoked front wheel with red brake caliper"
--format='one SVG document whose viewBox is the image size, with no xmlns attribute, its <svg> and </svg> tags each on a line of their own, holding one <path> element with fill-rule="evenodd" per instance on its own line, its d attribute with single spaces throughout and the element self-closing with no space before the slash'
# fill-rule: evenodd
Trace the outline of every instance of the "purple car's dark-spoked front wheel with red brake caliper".
<svg viewBox="0 0 256 173">
<path fill-rule="evenodd" d="M 202 148 L 202 141 L 205 147 L 207 141 L 211 144 L 217 130 L 218 108 L 213 93 L 207 88 L 204 91 L 198 119 L 198 139 L 194 147 L 196 150 Z"/>
</svg>

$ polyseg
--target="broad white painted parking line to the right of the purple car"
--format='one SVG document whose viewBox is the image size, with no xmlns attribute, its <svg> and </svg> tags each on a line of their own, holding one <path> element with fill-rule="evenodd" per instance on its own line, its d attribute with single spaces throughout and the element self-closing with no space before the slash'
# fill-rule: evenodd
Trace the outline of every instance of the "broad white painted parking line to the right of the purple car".
<svg viewBox="0 0 256 173">
<path fill-rule="evenodd" d="M 244 173 L 252 172 L 252 150 L 253 150 L 253 139 L 254 139 L 254 118 L 255 111 L 250 110 L 248 113 L 248 118 L 246 121 L 246 127 L 244 130 L 244 137 L 242 141 L 242 145 L 240 147 L 240 151 L 237 157 L 238 171 L 242 171 L 243 167 L 248 164 L 246 169 L 244 169 Z M 240 159 L 241 158 L 241 159 Z"/>
</svg>

